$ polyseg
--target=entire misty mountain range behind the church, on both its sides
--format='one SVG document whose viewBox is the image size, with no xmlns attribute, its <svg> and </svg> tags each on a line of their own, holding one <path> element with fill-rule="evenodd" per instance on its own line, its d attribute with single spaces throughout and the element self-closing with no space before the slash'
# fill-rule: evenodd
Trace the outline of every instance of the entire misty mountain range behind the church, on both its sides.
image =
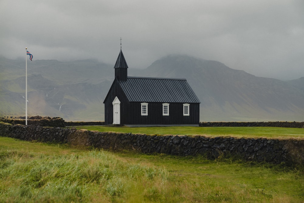
<svg viewBox="0 0 304 203">
<path fill-rule="evenodd" d="M 126 61 L 128 61 L 126 59 Z M 28 61 L 28 114 L 103 121 L 114 66 L 97 60 Z M 25 61 L 0 57 L 0 116 L 25 114 Z M 218 61 L 170 55 L 129 76 L 185 78 L 199 97 L 201 121 L 303 121 L 304 77 L 256 77 Z"/>
</svg>

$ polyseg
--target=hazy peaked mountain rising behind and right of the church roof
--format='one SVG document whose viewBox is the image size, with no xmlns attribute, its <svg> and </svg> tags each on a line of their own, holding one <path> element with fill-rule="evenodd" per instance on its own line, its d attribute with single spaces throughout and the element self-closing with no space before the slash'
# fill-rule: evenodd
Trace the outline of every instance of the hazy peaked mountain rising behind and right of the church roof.
<svg viewBox="0 0 304 203">
<path fill-rule="evenodd" d="M 171 55 L 140 72 L 140 76 L 144 75 L 186 78 L 201 101 L 201 120 L 303 119 L 299 112 L 304 112 L 304 94 L 299 88 L 218 61 Z"/>
</svg>

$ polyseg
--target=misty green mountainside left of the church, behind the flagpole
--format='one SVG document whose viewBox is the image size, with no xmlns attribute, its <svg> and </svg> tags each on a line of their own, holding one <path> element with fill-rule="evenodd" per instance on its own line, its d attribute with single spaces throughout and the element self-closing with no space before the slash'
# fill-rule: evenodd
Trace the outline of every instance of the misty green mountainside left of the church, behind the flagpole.
<svg viewBox="0 0 304 203">
<path fill-rule="evenodd" d="M 25 61 L 0 58 L 0 116 L 25 114 Z M 103 121 L 112 65 L 97 60 L 28 61 L 28 115 Z"/>
</svg>

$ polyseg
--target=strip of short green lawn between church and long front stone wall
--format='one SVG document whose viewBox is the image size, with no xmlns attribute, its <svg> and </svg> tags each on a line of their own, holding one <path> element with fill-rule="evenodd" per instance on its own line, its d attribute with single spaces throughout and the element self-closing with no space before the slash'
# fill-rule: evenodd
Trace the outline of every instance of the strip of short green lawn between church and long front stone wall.
<svg viewBox="0 0 304 203">
<path fill-rule="evenodd" d="M 304 139 L 304 128 L 275 128 L 275 127 L 113 127 L 113 126 L 75 126 L 77 129 L 87 129 L 99 132 L 121 132 L 146 135 L 205 135 L 231 136 L 249 138 L 279 138 Z"/>
</svg>

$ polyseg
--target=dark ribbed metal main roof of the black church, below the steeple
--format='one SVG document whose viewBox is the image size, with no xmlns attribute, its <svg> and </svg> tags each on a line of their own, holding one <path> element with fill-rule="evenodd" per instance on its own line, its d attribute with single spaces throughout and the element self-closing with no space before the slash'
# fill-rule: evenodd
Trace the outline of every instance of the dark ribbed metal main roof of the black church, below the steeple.
<svg viewBox="0 0 304 203">
<path fill-rule="evenodd" d="M 118 82 L 130 102 L 200 103 L 186 79 L 128 77 Z"/>
</svg>

